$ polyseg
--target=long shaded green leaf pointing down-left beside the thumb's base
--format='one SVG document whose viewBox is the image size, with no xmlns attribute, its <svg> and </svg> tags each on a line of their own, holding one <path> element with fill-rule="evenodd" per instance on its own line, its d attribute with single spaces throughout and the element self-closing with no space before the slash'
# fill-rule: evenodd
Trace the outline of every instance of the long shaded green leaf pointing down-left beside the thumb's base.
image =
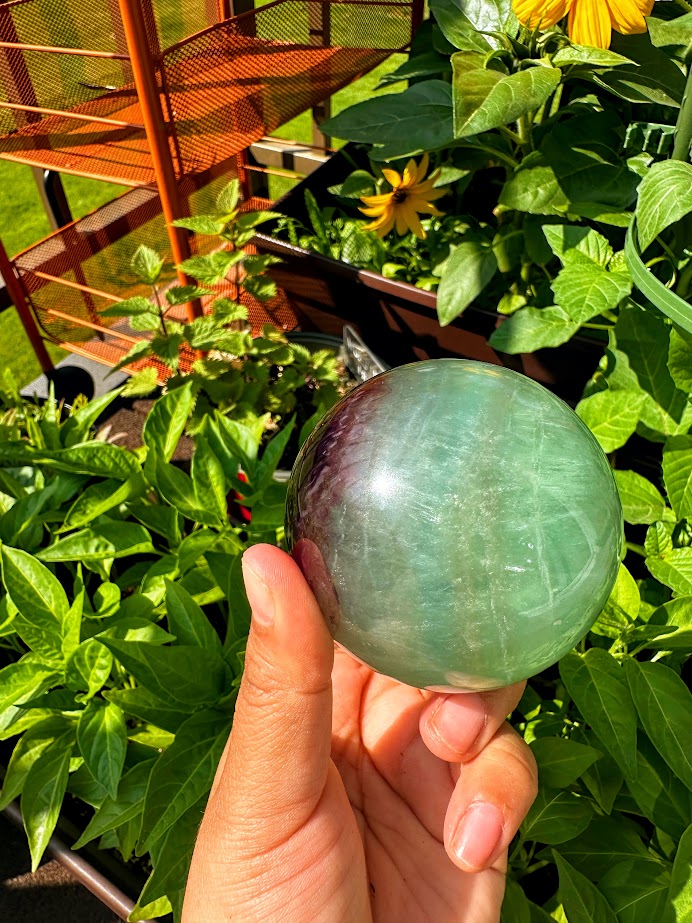
<svg viewBox="0 0 692 923">
<path fill-rule="evenodd" d="M 182 724 L 149 779 L 138 854 L 142 855 L 211 788 L 230 716 L 205 710 Z"/>
</svg>

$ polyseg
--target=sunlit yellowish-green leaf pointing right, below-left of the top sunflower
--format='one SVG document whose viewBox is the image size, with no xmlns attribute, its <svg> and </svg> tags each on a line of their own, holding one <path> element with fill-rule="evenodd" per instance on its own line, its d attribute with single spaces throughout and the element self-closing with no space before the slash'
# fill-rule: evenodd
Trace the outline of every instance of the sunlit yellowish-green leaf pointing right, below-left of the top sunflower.
<svg viewBox="0 0 692 923">
<path fill-rule="evenodd" d="M 560 82 L 554 67 L 531 67 L 514 74 L 486 70 L 475 52 L 452 55 L 454 135 L 467 138 L 509 125 L 538 109 Z"/>
</svg>

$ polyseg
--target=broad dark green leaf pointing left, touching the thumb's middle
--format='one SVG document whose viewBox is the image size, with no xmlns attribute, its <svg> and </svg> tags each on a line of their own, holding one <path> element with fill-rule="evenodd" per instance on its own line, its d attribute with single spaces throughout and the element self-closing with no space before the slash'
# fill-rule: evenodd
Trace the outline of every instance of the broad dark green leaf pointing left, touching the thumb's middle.
<svg viewBox="0 0 692 923">
<path fill-rule="evenodd" d="M 230 677 L 223 660 L 199 647 L 160 647 L 112 638 L 103 638 L 102 643 L 145 689 L 164 701 L 191 710 L 218 701 L 228 691 Z"/>
</svg>

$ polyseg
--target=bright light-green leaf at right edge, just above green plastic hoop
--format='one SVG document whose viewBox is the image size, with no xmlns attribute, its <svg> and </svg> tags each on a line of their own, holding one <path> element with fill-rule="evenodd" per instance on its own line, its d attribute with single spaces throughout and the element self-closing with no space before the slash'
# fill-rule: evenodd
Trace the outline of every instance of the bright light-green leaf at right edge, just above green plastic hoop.
<svg viewBox="0 0 692 923">
<path fill-rule="evenodd" d="M 641 252 L 662 231 L 690 212 L 692 164 L 682 160 L 662 160 L 652 164 L 639 186 L 637 228 Z"/>
</svg>

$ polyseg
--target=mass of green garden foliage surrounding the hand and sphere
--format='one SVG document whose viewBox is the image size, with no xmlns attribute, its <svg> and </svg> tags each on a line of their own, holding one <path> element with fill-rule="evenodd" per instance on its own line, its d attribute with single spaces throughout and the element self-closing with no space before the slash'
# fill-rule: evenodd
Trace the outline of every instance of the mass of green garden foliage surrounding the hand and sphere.
<svg viewBox="0 0 692 923">
<path fill-rule="evenodd" d="M 687 923 L 692 127 L 680 106 L 692 14 L 657 3 L 646 35 L 603 50 L 557 27 L 522 31 L 506 0 L 431 0 L 431 10 L 391 78 L 408 88 L 332 120 L 334 134 L 373 145 L 372 168 L 335 193 L 353 206 L 384 189 L 378 164 L 403 168 L 427 151 L 451 189 L 437 203 L 446 216 L 426 219 L 414 244 L 364 234 L 348 210 L 308 199 L 311 228 L 286 232 L 439 286 L 442 323 L 471 304 L 497 308 L 501 352 L 559 349 L 584 331 L 602 343 L 577 412 L 615 471 L 625 557 L 588 637 L 529 682 L 512 715 L 540 791 L 510 851 L 503 923 Z M 224 230 L 218 216 L 195 221 L 197 233 Z M 145 257 L 154 272 L 157 258 Z M 153 331 L 152 304 L 140 307 Z M 219 315 L 214 338 L 237 336 L 239 322 Z M 204 348 L 197 332 L 174 328 L 176 348 L 185 337 Z M 61 809 L 87 805 L 78 847 L 150 863 L 133 920 L 170 907 L 180 917 L 242 673 L 240 554 L 283 541 L 273 472 L 293 424 L 262 451 L 261 414 L 275 408 L 253 397 L 254 415 L 229 419 L 219 408 L 235 412 L 235 397 L 212 395 L 190 425 L 204 389 L 195 375 L 174 378 L 135 453 L 93 436 L 112 396 L 69 415 L 54 401 L 4 398 L 0 737 L 14 751 L 0 803 L 21 798 L 34 864 Z M 189 474 L 171 462 L 186 427 Z M 252 511 L 242 527 L 228 518 L 235 493 Z"/>
</svg>

